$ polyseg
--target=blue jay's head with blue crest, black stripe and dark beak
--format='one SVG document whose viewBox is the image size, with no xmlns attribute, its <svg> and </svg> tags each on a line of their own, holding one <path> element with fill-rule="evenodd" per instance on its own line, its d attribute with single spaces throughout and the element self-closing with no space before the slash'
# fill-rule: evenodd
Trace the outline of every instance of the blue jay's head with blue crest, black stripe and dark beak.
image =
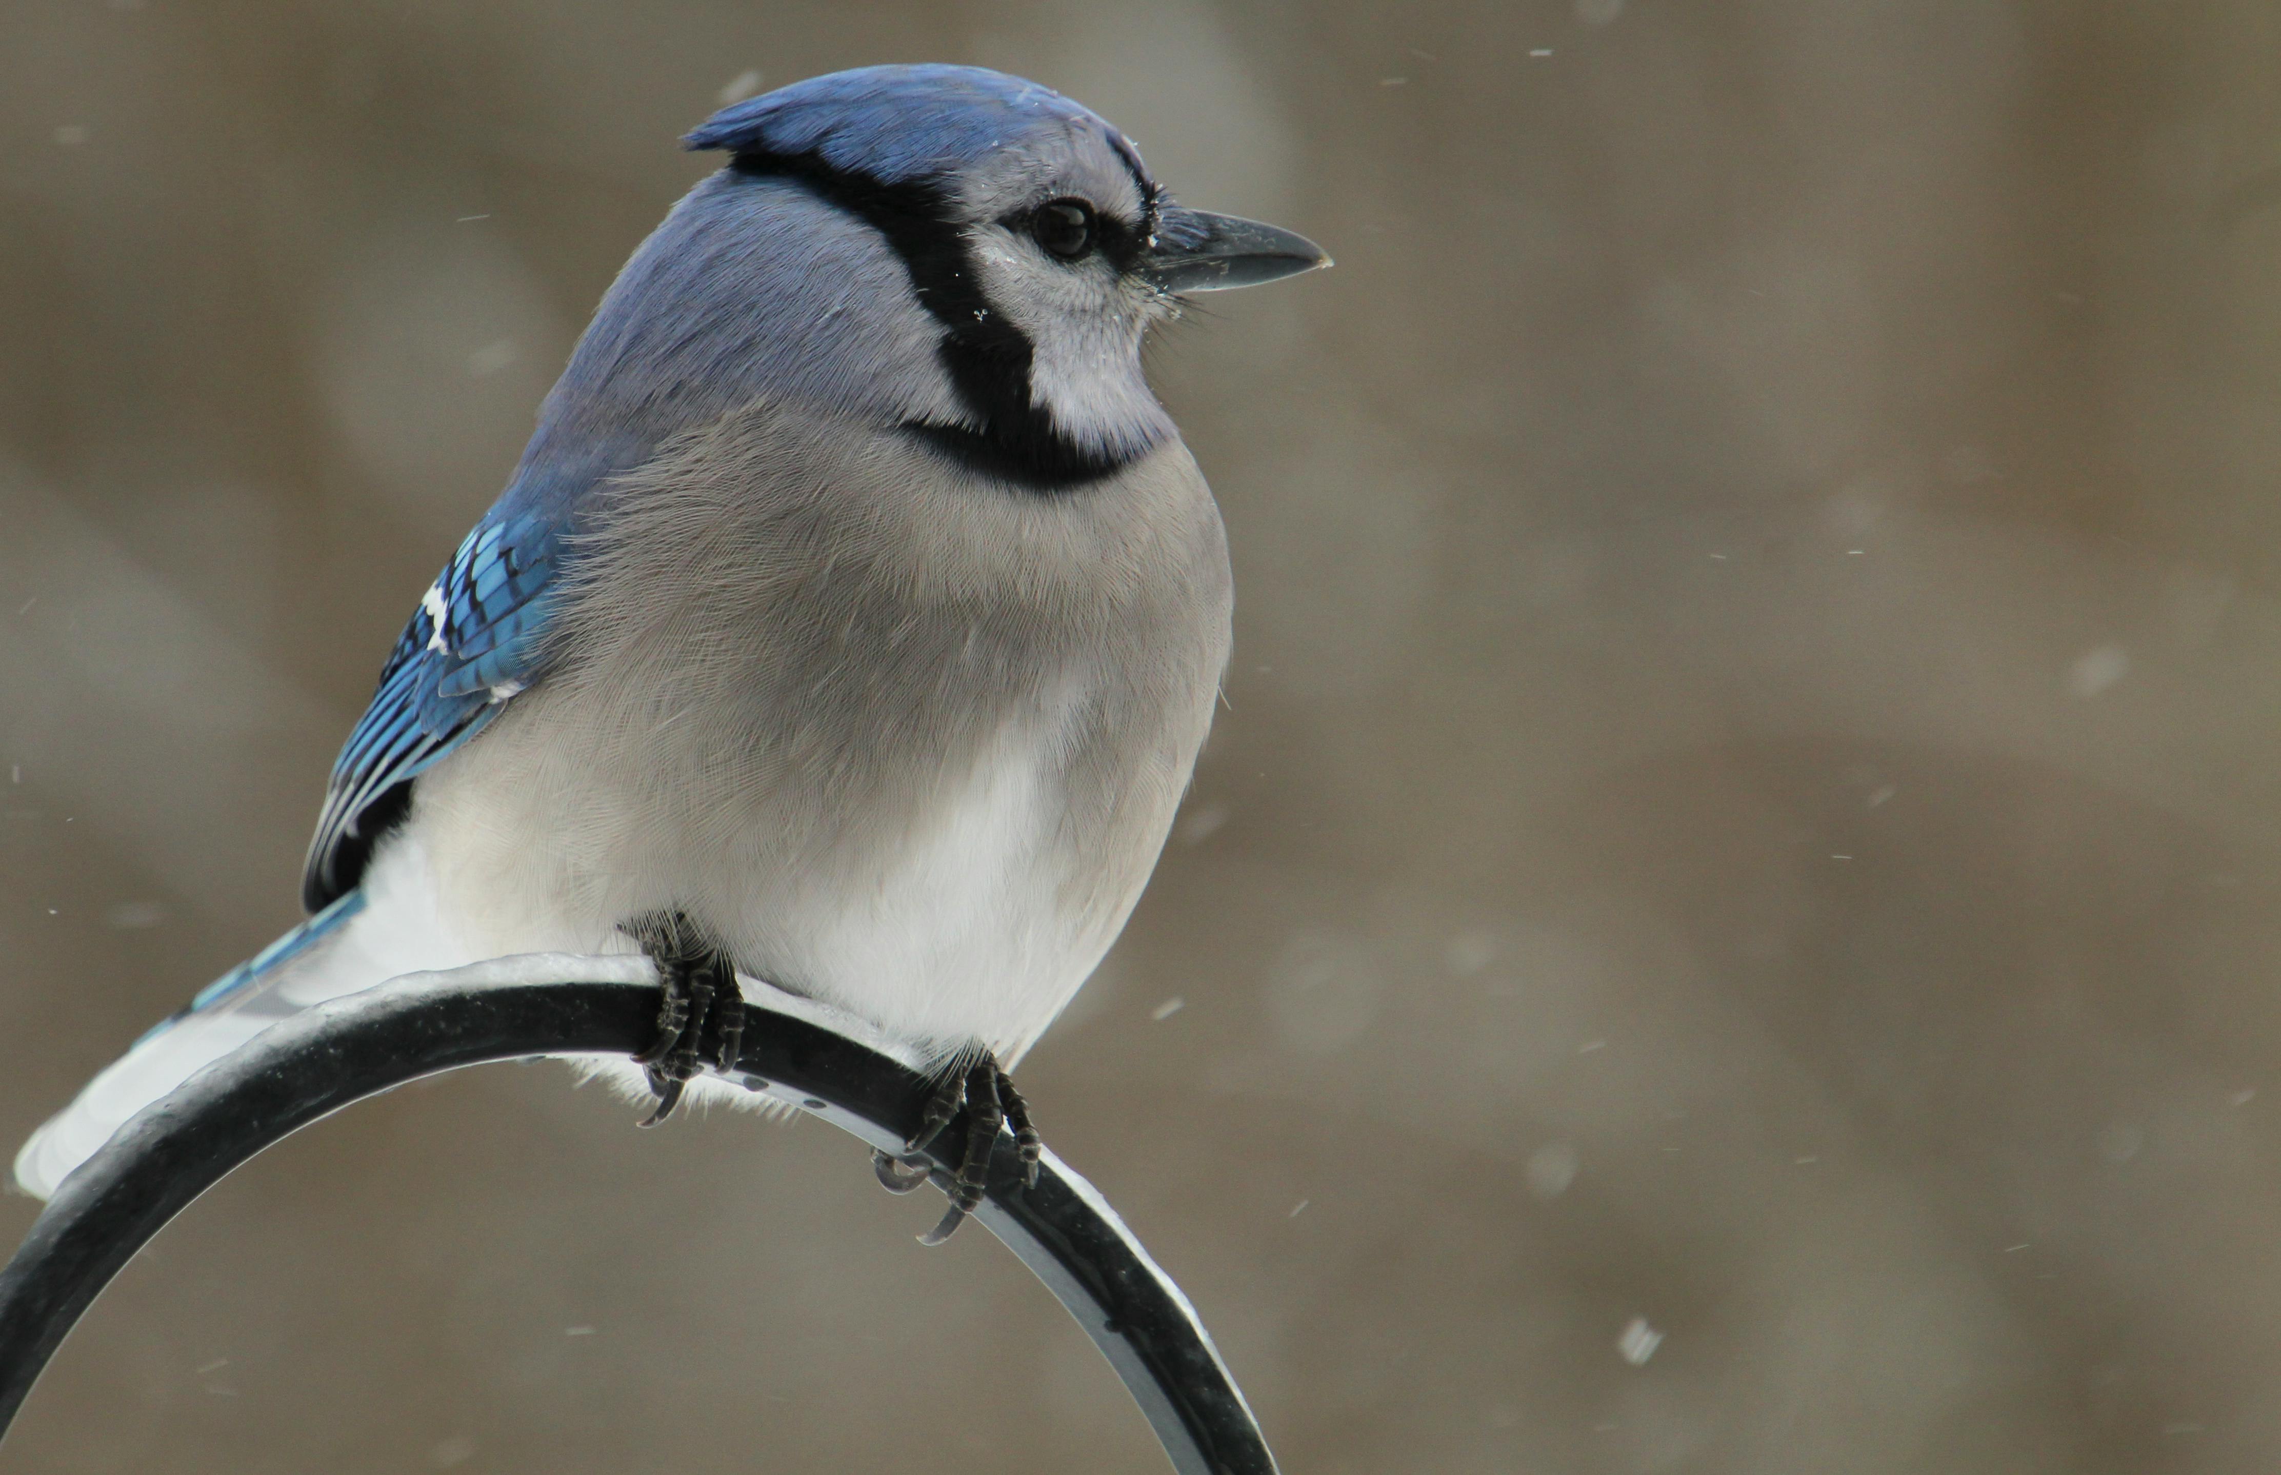
<svg viewBox="0 0 2281 1475">
<path fill-rule="evenodd" d="M 643 296 L 698 294 L 741 324 L 737 374 L 771 392 L 885 410 L 1036 488 L 1172 433 L 1140 340 L 1179 294 L 1330 264 L 1289 230 L 1170 203 L 1106 121 L 974 66 L 810 78 L 687 144 L 730 160 L 646 246 L 666 260 L 630 264 Z M 677 342 L 732 367 L 689 303 L 673 317 Z"/>
</svg>

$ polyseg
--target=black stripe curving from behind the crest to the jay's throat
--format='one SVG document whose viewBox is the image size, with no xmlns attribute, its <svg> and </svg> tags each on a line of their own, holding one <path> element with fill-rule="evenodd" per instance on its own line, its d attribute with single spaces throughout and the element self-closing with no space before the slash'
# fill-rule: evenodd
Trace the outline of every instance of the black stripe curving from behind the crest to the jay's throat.
<svg viewBox="0 0 2281 1475">
<path fill-rule="evenodd" d="M 1040 492 L 1097 481 L 1131 461 L 1077 445 L 1036 404 L 1029 335 L 990 305 L 974 269 L 974 251 L 951 223 L 951 201 L 935 180 L 887 185 L 835 169 L 814 153 L 739 153 L 730 166 L 737 173 L 807 185 L 819 198 L 887 237 L 903 258 L 910 290 L 942 324 L 935 353 L 951 388 L 981 422 L 981 429 L 910 424 L 910 431 L 963 465 Z"/>
</svg>

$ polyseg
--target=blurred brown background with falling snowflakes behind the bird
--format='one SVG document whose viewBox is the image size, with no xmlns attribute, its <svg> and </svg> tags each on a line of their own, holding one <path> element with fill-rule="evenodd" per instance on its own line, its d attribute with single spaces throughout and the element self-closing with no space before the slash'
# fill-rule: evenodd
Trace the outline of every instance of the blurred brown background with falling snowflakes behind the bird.
<svg viewBox="0 0 2281 1475">
<path fill-rule="evenodd" d="M 294 919 L 675 137 L 883 59 L 1339 258 L 1154 353 L 1239 663 L 1024 1071 L 1284 1466 L 2276 1468 L 2267 0 L 14 0 L 9 1149 Z M 488 1069 L 297 1138 L 0 1466 L 1161 1468 L 851 1140 L 632 1119 Z"/>
</svg>

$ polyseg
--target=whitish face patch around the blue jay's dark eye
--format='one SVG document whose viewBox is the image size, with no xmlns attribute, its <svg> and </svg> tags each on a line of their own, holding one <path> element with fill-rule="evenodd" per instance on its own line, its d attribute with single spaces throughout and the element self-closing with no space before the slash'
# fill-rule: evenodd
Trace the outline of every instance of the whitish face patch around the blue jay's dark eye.
<svg viewBox="0 0 2281 1475">
<path fill-rule="evenodd" d="M 1177 310 L 1138 269 L 1156 203 L 1129 146 L 1079 128 L 1006 150 L 960 198 L 981 296 L 1029 342 L 1031 401 L 1106 454 L 1168 431 L 1140 372 L 1140 340 Z"/>
</svg>

